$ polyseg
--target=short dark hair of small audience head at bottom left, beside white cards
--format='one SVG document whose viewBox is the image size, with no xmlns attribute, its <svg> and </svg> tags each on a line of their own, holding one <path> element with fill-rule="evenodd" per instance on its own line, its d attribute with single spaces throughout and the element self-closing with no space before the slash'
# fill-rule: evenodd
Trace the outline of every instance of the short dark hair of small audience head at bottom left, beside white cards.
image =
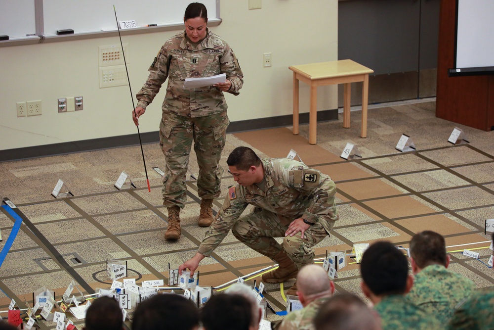
<svg viewBox="0 0 494 330">
<path fill-rule="evenodd" d="M 122 330 L 124 324 L 119 303 L 110 297 L 93 300 L 86 311 L 86 330 Z"/>
</svg>

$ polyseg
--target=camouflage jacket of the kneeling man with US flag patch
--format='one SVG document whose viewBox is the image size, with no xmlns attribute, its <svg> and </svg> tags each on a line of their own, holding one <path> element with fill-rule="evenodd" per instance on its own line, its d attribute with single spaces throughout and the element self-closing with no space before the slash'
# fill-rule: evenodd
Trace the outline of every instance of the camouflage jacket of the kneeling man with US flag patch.
<svg viewBox="0 0 494 330">
<path fill-rule="evenodd" d="M 199 253 L 209 257 L 249 204 L 282 216 L 280 221 L 286 221 L 284 226 L 302 217 L 311 223 L 320 222 L 329 233 L 338 219 L 334 205 L 336 186 L 329 176 L 288 158 L 262 159 L 261 162 L 266 191 L 256 185 L 232 186 L 199 246 Z"/>
</svg>

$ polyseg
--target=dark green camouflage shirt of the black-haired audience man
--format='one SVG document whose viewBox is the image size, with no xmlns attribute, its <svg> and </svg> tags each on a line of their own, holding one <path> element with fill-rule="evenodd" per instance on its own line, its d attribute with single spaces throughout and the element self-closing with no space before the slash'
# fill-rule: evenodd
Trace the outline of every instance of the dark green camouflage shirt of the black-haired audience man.
<svg viewBox="0 0 494 330">
<path fill-rule="evenodd" d="M 436 318 L 413 305 L 403 295 L 384 296 L 374 309 L 381 318 L 382 330 L 445 329 Z"/>
</svg>

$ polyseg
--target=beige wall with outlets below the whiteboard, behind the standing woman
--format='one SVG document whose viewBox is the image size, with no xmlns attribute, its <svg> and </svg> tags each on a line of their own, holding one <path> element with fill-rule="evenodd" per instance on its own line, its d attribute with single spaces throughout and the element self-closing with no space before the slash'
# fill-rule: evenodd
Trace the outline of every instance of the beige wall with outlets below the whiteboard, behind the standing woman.
<svg viewBox="0 0 494 330">
<path fill-rule="evenodd" d="M 223 22 L 211 30 L 234 49 L 244 71 L 239 96 L 227 95 L 230 120 L 289 115 L 289 65 L 337 59 L 337 0 L 221 0 Z M 180 30 L 124 36 L 132 93 L 145 82 L 154 56 Z M 128 86 L 99 88 L 98 46 L 118 38 L 0 47 L 0 150 L 136 133 Z M 272 52 L 273 66 L 262 66 Z M 336 89 L 318 90 L 318 109 L 337 107 Z M 57 99 L 83 96 L 84 110 L 58 113 Z M 158 130 L 165 87 L 141 117 L 140 131 Z M 308 112 L 309 89 L 300 84 L 300 112 Z M 42 100 L 42 115 L 17 117 L 16 102 Z"/>
</svg>

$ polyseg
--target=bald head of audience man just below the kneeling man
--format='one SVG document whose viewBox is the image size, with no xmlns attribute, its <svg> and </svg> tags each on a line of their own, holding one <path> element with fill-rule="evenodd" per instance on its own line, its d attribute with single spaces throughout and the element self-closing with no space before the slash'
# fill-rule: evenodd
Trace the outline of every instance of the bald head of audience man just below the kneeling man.
<svg viewBox="0 0 494 330">
<path fill-rule="evenodd" d="M 314 299 L 330 296 L 333 292 L 334 283 L 321 266 L 310 264 L 300 268 L 297 275 L 297 295 L 303 306 Z"/>
</svg>

